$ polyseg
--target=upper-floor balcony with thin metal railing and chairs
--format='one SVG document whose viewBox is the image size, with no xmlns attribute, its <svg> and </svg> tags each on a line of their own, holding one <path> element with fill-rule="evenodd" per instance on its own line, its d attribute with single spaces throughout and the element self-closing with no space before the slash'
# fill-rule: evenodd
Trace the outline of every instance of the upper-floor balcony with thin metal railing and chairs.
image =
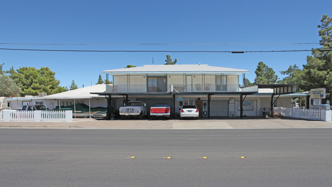
<svg viewBox="0 0 332 187">
<path fill-rule="evenodd" d="M 194 85 L 173 85 L 179 93 L 207 93 L 207 92 L 241 92 L 241 85 L 211 85 L 206 83 L 194 84 Z M 171 85 L 156 87 L 156 86 L 147 86 L 147 85 L 106 85 L 106 92 L 108 93 L 167 93 L 171 89 Z M 176 92 L 173 90 L 173 92 Z"/>
</svg>

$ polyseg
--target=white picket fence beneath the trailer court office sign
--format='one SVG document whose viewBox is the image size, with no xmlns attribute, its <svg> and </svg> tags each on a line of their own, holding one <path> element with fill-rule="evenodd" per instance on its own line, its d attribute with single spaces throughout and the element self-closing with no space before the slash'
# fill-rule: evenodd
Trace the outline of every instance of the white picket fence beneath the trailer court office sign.
<svg viewBox="0 0 332 187">
<path fill-rule="evenodd" d="M 331 121 L 331 110 L 274 107 L 274 113 L 293 118 Z"/>
</svg>

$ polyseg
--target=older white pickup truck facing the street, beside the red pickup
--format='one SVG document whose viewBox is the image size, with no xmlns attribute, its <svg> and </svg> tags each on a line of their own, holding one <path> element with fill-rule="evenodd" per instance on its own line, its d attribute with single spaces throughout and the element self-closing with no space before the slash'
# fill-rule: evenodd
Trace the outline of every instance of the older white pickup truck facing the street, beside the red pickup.
<svg viewBox="0 0 332 187">
<path fill-rule="evenodd" d="M 125 116 L 139 116 L 139 119 L 143 119 L 143 116 L 147 117 L 147 111 L 145 103 L 141 101 L 129 101 L 124 107 L 120 107 L 119 113 L 121 120 L 124 120 Z"/>
</svg>

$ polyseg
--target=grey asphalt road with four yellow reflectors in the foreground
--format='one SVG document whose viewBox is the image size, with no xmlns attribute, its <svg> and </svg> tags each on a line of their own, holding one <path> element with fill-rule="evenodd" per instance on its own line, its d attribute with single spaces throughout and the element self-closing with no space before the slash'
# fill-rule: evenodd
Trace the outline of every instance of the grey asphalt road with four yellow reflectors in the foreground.
<svg viewBox="0 0 332 187">
<path fill-rule="evenodd" d="M 0 186 L 332 186 L 331 153 L 332 129 L 0 129 Z"/>
</svg>

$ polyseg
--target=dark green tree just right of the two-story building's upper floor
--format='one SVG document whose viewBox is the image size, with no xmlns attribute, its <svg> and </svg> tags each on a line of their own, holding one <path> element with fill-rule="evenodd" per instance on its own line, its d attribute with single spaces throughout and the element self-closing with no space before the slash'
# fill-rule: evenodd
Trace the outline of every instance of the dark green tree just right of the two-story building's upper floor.
<svg viewBox="0 0 332 187">
<path fill-rule="evenodd" d="M 258 62 L 255 73 L 255 84 L 275 84 L 278 80 L 278 76 L 275 75 L 273 69 L 263 62 Z"/>
</svg>

